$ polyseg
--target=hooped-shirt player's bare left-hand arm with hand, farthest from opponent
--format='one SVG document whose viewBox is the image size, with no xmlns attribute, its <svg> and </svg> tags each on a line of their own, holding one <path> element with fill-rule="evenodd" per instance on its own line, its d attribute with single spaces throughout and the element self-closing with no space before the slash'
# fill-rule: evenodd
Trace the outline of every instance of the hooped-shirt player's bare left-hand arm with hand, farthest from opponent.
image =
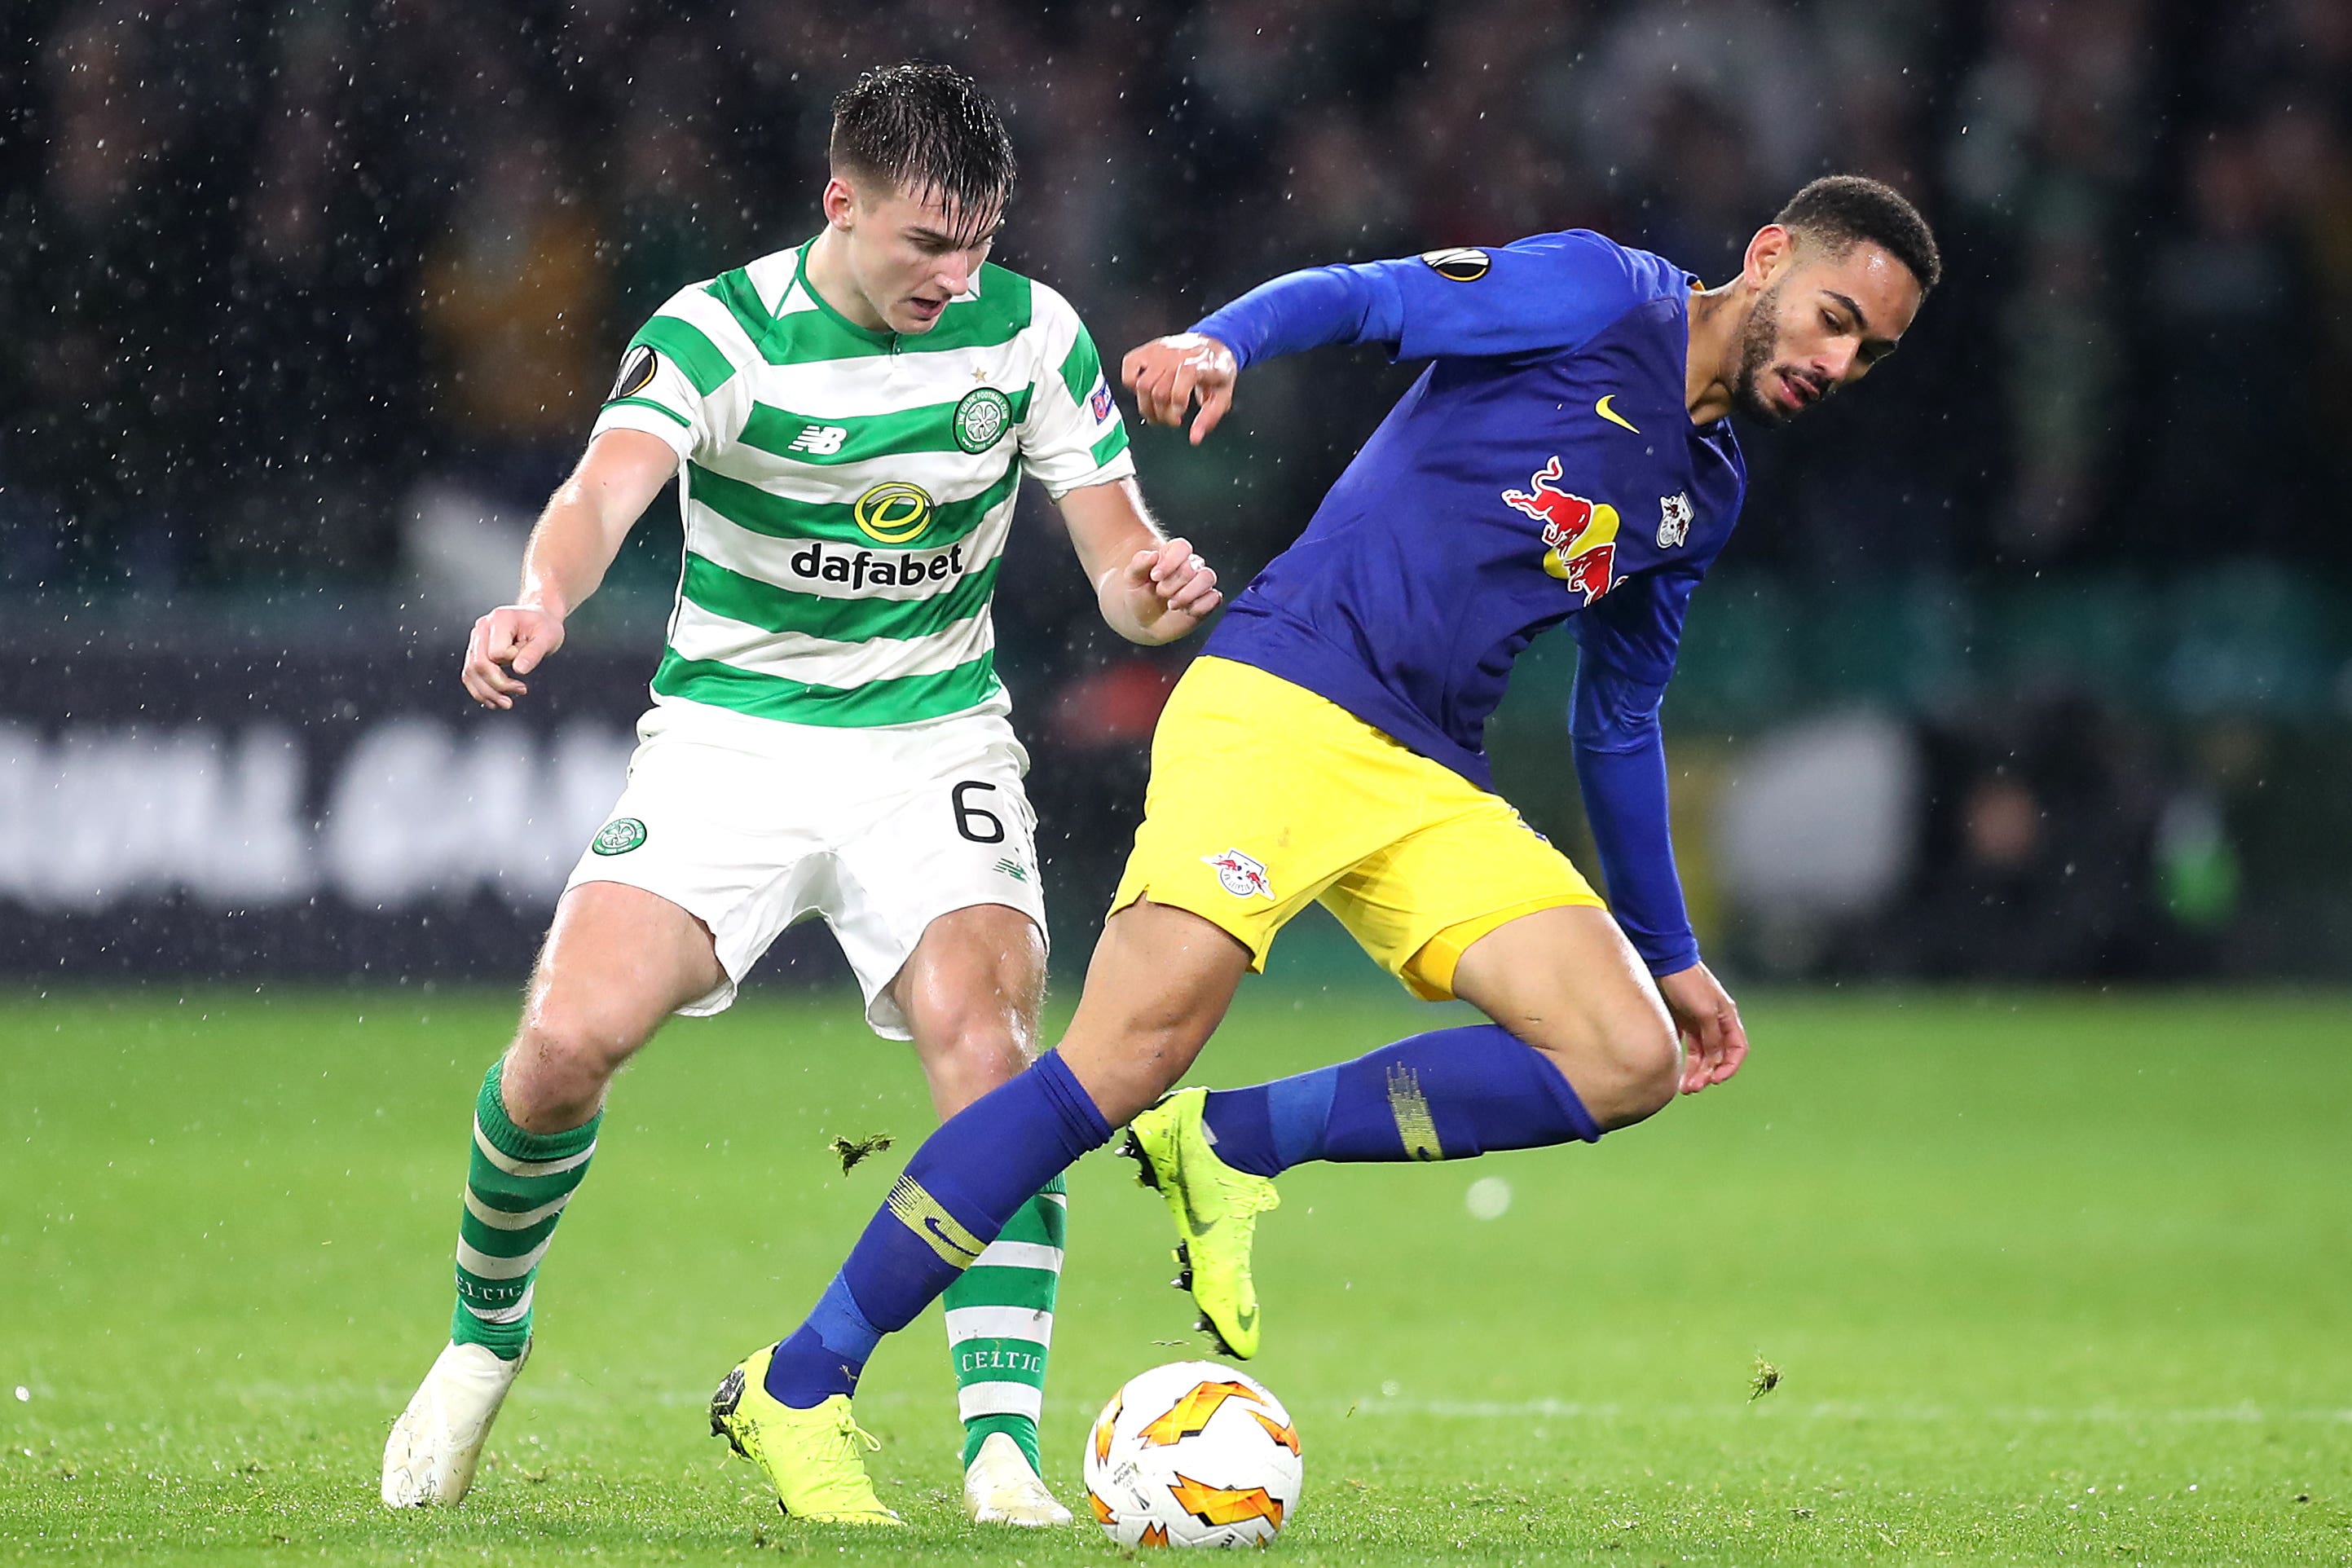
<svg viewBox="0 0 2352 1568">
<path fill-rule="evenodd" d="M 597 590 L 621 541 L 677 475 L 668 442 L 640 430 L 607 430 L 548 498 L 522 550 L 522 588 L 473 623 L 466 639 L 466 693 L 482 708 L 513 708 L 524 675 L 564 644 L 564 616 Z"/>
</svg>

